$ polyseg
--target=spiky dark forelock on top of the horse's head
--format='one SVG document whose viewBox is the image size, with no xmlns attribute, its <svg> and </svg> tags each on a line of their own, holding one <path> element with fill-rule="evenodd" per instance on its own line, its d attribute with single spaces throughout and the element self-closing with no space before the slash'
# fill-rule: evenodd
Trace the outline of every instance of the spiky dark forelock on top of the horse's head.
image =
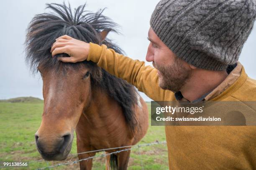
<svg viewBox="0 0 256 170">
<path fill-rule="evenodd" d="M 67 54 L 59 54 L 54 59 L 51 57 L 51 45 L 56 38 L 62 35 L 69 35 L 84 42 L 105 44 L 116 52 L 122 53 L 122 50 L 110 40 L 101 41 L 100 39 L 99 32 L 102 30 L 111 30 L 118 33 L 115 30 L 118 25 L 102 15 L 104 10 L 99 10 L 96 13 L 85 11 L 86 4 L 84 4 L 72 13 L 70 5 L 67 6 L 65 3 L 46 5 L 46 9 L 51 12 L 36 15 L 27 29 L 26 62 L 33 72 L 37 71 L 39 64 L 44 67 L 56 67 L 56 64 L 60 63 L 56 60 L 57 57 L 68 56 Z"/>
</svg>

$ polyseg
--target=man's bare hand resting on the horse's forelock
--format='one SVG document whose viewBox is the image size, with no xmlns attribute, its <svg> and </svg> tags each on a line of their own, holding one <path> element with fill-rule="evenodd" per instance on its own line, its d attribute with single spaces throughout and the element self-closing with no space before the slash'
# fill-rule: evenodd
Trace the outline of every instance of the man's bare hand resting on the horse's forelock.
<svg viewBox="0 0 256 170">
<path fill-rule="evenodd" d="M 51 55 L 67 53 L 70 57 L 58 57 L 62 62 L 79 62 L 87 59 L 89 54 L 90 44 L 63 35 L 56 39 L 56 42 L 51 47 Z"/>
</svg>

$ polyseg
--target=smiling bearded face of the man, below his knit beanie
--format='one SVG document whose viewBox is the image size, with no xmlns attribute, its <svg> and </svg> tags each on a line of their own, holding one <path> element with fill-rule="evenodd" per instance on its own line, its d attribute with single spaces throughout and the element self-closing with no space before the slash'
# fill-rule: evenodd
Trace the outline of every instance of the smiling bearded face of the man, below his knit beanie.
<svg viewBox="0 0 256 170">
<path fill-rule="evenodd" d="M 146 60 L 153 62 L 158 70 L 159 86 L 173 92 L 180 91 L 191 77 L 192 69 L 187 62 L 179 59 L 164 42 L 162 42 L 152 28 L 148 30 L 148 51 Z"/>
</svg>

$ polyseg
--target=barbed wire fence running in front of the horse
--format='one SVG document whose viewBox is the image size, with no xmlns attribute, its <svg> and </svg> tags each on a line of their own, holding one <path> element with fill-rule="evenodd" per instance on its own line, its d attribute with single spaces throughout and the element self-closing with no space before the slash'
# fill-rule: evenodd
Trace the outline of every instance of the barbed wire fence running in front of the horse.
<svg viewBox="0 0 256 170">
<path fill-rule="evenodd" d="M 141 153 L 140 153 L 140 148 L 141 147 L 157 145 L 157 144 L 166 144 L 166 141 L 162 141 L 162 142 L 156 141 L 154 143 L 144 143 L 144 144 L 139 144 L 139 145 L 129 145 L 129 146 L 116 147 L 116 148 L 105 148 L 105 149 L 100 149 L 100 150 L 92 150 L 92 151 L 87 151 L 87 152 L 82 152 L 82 153 L 69 154 L 68 156 L 80 155 L 80 154 L 84 154 L 84 153 L 96 153 L 96 152 L 102 152 L 102 151 L 104 152 L 103 154 L 100 154 L 100 155 L 95 155 L 95 156 L 91 156 L 91 157 L 87 157 L 87 158 L 84 158 L 84 159 L 75 160 L 75 161 L 71 161 L 71 162 L 66 162 L 66 163 L 58 163 L 56 165 L 47 166 L 47 167 L 44 167 L 44 168 L 38 168 L 36 170 L 44 170 L 44 169 L 59 167 L 59 166 L 62 166 L 62 165 L 75 164 L 75 163 L 79 163 L 79 162 L 81 162 L 83 160 L 90 160 L 90 159 L 97 158 L 97 157 L 105 157 L 106 158 L 106 156 L 108 156 L 108 155 L 112 155 L 112 154 L 116 154 L 116 153 L 120 153 L 120 152 L 125 152 L 125 151 L 128 151 L 128 150 L 132 150 L 133 148 L 138 148 L 138 154 L 139 154 L 139 157 L 141 159 Z M 105 151 L 114 150 L 114 149 L 122 149 L 122 150 L 117 150 L 117 151 L 112 152 L 112 153 L 105 153 Z M 29 161 L 27 163 L 29 165 L 31 163 L 38 163 L 38 162 L 42 162 L 42 161 L 45 161 L 45 160 L 44 159 L 33 160 L 33 161 Z M 142 160 L 140 160 L 140 162 L 141 162 L 141 168 L 142 168 L 142 170 L 144 170 L 144 167 L 143 167 L 143 164 L 142 164 Z M 48 164 L 48 162 L 47 162 L 47 164 Z M 2 166 L 0 168 L 6 168 L 6 167 Z"/>
</svg>

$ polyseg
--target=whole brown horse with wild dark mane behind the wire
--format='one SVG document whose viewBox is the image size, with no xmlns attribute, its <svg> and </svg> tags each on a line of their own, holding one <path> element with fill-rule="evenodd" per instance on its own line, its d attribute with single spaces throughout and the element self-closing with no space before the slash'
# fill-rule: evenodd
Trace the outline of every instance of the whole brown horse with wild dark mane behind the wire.
<svg viewBox="0 0 256 170">
<path fill-rule="evenodd" d="M 28 26 L 26 59 L 43 80 L 44 112 L 36 132 L 36 146 L 45 160 L 67 158 L 77 134 L 77 152 L 114 148 L 138 143 L 148 129 L 146 103 L 135 88 L 98 67 L 93 62 L 64 63 L 51 57 L 50 48 L 61 35 L 85 42 L 105 44 L 122 51 L 108 40 L 115 23 L 97 13 L 84 13 L 79 6 L 47 4 L 55 13 L 36 15 Z M 102 31 L 103 30 L 103 31 Z M 109 153 L 121 150 L 108 150 Z M 80 154 L 79 159 L 95 155 Z M 130 151 L 108 156 L 106 168 L 115 165 L 127 169 Z M 91 169 L 92 159 L 80 162 L 81 169 Z"/>
</svg>

